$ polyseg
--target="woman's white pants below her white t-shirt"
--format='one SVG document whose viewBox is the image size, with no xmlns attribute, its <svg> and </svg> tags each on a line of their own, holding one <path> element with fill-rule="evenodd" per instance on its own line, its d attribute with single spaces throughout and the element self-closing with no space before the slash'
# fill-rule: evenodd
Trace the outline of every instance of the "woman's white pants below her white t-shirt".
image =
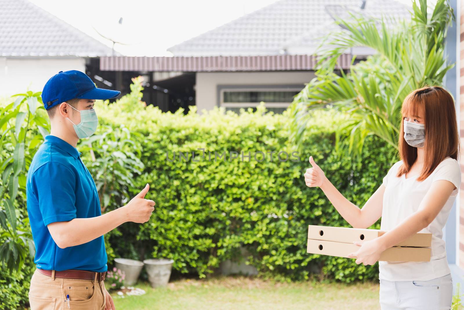
<svg viewBox="0 0 464 310">
<path fill-rule="evenodd" d="M 381 310 L 450 310 L 451 274 L 428 281 L 380 280 Z"/>
</svg>

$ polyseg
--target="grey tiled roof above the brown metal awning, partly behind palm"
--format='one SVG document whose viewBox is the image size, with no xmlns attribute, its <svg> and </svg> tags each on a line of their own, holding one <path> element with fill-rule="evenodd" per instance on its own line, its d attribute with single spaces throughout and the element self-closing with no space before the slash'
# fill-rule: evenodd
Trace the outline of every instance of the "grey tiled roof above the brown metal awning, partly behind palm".
<svg viewBox="0 0 464 310">
<path fill-rule="evenodd" d="M 346 8 L 361 6 L 360 0 L 279 0 L 223 26 L 168 48 L 174 56 L 235 56 L 312 53 L 316 39 L 339 27 L 325 6 L 337 6 L 338 15 Z M 366 15 L 409 18 L 408 7 L 393 0 L 367 0 Z"/>
</svg>

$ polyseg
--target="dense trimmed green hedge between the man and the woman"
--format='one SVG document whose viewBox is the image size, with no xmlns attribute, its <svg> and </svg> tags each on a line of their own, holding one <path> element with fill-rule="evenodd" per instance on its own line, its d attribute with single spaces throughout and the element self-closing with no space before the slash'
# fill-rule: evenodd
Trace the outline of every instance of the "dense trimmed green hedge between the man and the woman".
<svg viewBox="0 0 464 310">
<path fill-rule="evenodd" d="M 361 161 L 353 163 L 335 152 L 335 128 L 345 119 L 331 110 L 311 112 L 302 149 L 296 150 L 288 143 L 286 115 L 263 115 L 262 109 L 240 116 L 220 110 L 198 114 L 194 109 L 187 115 L 161 113 L 138 99 L 99 108 L 104 111 L 101 123 L 124 124 L 142 134 L 145 168 L 129 190 L 135 195 L 149 183 L 147 198 L 156 201 L 148 223 L 126 223 L 110 234 L 107 246 L 114 255 L 172 258 L 174 272 L 204 277 L 245 246 L 252 254 L 248 262 L 273 278 L 302 280 L 315 271 L 343 282 L 377 277 L 377 265 L 306 253 L 309 224 L 349 225 L 319 188 L 305 186 L 303 173 L 313 155 L 330 181 L 361 207 L 391 166 L 393 150 L 385 143 L 368 137 Z M 205 149 L 205 159 L 198 149 Z M 226 160 L 214 161 L 214 152 L 224 151 Z M 258 151 L 265 154 L 264 161 L 261 154 L 261 162 L 253 158 Z M 273 161 L 270 151 L 276 152 Z M 290 160 L 279 161 L 281 151 L 290 154 Z M 292 161 L 295 151 L 301 161 Z M 173 161 L 174 152 L 190 156 Z M 239 158 L 231 160 L 230 152 L 238 152 Z M 242 161 L 241 152 L 251 152 L 251 160 Z"/>
</svg>

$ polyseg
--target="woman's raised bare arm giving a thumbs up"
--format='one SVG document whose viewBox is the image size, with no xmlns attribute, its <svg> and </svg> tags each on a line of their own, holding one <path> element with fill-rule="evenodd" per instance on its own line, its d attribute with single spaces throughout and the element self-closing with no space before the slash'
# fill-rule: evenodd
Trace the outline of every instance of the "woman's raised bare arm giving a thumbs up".
<svg viewBox="0 0 464 310">
<path fill-rule="evenodd" d="M 380 185 L 375 193 L 367 200 L 362 209 L 354 205 L 340 193 L 316 164 L 313 157 L 309 157 L 313 166 L 306 170 L 304 179 L 308 187 L 321 187 L 335 209 L 354 228 L 367 228 L 373 225 L 382 215 L 383 194 L 385 186 Z"/>
</svg>

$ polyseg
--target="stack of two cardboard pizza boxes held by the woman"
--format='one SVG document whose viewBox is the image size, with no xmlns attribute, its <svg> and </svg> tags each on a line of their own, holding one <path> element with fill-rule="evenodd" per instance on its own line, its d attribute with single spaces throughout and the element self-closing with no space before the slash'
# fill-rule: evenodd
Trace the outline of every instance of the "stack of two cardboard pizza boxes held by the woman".
<svg viewBox="0 0 464 310">
<path fill-rule="evenodd" d="M 308 253 L 347 257 L 359 250 L 355 241 L 369 241 L 386 232 L 377 229 L 309 225 Z M 430 261 L 431 233 L 416 233 L 382 252 L 379 260 L 403 262 Z"/>
</svg>

